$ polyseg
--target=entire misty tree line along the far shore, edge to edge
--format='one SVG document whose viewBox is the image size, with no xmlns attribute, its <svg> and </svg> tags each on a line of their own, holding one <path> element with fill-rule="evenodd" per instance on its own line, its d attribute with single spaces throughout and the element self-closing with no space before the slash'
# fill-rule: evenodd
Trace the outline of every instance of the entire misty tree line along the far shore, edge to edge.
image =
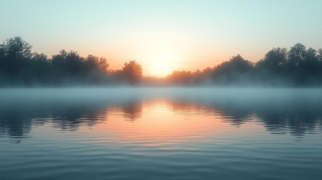
<svg viewBox="0 0 322 180">
<path fill-rule="evenodd" d="M 61 50 L 47 57 L 16 36 L 0 45 L 0 86 L 321 86 L 322 49 L 298 43 L 289 50 L 273 48 L 258 62 L 232 56 L 212 68 L 173 71 L 164 78 L 144 77 L 133 61 L 109 69 L 106 58 Z"/>
</svg>

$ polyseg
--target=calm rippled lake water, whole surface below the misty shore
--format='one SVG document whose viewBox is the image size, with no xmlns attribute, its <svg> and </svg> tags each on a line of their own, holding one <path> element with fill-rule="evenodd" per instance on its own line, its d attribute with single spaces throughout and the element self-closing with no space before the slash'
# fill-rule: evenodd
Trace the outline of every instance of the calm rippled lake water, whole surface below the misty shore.
<svg viewBox="0 0 322 180">
<path fill-rule="evenodd" d="M 2 89 L 0 102 L 0 179 L 322 178 L 322 89 Z"/>
</svg>

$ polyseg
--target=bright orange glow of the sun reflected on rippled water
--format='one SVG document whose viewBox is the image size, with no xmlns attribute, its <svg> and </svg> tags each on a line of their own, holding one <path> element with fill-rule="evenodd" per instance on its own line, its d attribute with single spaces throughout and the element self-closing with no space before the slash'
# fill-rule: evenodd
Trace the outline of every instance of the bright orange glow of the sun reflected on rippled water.
<svg viewBox="0 0 322 180">
<path fill-rule="evenodd" d="M 219 137 L 216 141 L 221 138 L 225 141 L 227 134 L 238 136 L 237 127 L 223 121 L 213 107 L 199 104 L 169 102 L 165 99 L 133 102 L 123 107 L 109 108 L 105 116 L 108 121 L 93 129 L 97 133 L 104 133 L 108 141 L 115 143 L 169 148 L 191 139 L 209 141 L 205 137 L 216 136 Z M 259 125 L 248 123 L 243 127 L 258 129 Z"/>
</svg>

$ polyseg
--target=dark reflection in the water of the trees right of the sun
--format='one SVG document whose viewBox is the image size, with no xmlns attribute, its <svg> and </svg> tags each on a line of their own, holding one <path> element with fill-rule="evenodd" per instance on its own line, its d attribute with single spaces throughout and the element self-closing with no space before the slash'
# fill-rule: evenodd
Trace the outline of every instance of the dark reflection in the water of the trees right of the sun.
<svg viewBox="0 0 322 180">
<path fill-rule="evenodd" d="M 298 102 L 280 106 L 266 103 L 240 102 L 200 103 L 177 101 L 171 102 L 171 108 L 177 113 L 219 114 L 223 121 L 234 126 L 241 126 L 248 121 L 260 121 L 267 131 L 272 133 L 290 133 L 303 135 L 321 128 L 321 107 Z"/>
</svg>

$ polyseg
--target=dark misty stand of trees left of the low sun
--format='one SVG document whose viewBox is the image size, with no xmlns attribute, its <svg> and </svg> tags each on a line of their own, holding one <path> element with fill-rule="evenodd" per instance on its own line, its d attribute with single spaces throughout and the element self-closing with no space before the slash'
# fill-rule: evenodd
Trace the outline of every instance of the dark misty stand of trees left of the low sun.
<svg viewBox="0 0 322 180">
<path fill-rule="evenodd" d="M 111 70 L 103 57 L 81 57 L 76 51 L 61 50 L 48 58 L 32 53 L 31 47 L 19 36 L 0 45 L 0 86 L 134 85 L 142 77 L 142 68 L 135 61 Z"/>
</svg>

